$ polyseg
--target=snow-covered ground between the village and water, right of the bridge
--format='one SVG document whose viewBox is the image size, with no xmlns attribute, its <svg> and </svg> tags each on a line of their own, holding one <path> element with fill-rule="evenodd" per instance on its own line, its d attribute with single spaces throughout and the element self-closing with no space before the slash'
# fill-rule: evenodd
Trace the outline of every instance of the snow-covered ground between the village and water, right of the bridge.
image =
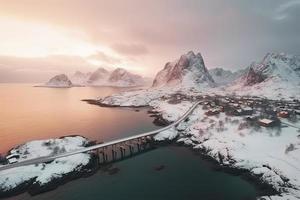
<svg viewBox="0 0 300 200">
<path fill-rule="evenodd" d="M 189 100 L 171 103 L 174 93 Z M 151 106 L 167 121 L 175 121 L 192 106 L 194 91 L 148 89 L 106 97 L 103 104 L 115 106 Z M 176 97 L 172 97 L 174 100 Z M 300 198 L 300 132 L 297 128 L 282 126 L 266 128 L 253 126 L 245 116 L 226 116 L 220 113 L 206 116 L 202 105 L 176 129 L 156 135 L 156 140 L 173 140 L 191 146 L 212 157 L 220 165 L 243 169 L 268 183 L 281 195 L 265 199 Z M 293 124 L 300 127 L 300 124 Z"/>
</svg>

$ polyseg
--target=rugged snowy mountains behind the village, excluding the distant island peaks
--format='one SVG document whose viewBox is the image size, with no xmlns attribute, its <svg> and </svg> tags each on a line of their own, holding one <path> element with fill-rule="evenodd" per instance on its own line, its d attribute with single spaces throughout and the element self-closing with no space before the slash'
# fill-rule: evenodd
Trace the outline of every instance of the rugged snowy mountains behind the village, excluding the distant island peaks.
<svg viewBox="0 0 300 200">
<path fill-rule="evenodd" d="M 157 73 L 152 87 L 166 86 L 277 98 L 295 96 L 300 93 L 300 57 L 268 53 L 261 61 L 232 72 L 208 70 L 200 53 L 188 52 Z"/>
</svg>

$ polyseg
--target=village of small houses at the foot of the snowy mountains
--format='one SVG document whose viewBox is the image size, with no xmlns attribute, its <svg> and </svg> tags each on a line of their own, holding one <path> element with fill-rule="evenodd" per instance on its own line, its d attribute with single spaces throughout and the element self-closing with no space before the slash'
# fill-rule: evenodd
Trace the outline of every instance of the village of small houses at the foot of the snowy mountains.
<svg viewBox="0 0 300 200">
<path fill-rule="evenodd" d="M 167 97 L 162 97 L 167 99 Z M 183 100 L 202 100 L 202 108 L 207 110 L 205 115 L 217 116 L 225 113 L 227 116 L 244 116 L 252 125 L 263 127 L 293 126 L 298 122 L 300 115 L 300 101 L 294 100 L 270 100 L 257 96 L 221 96 L 199 95 L 185 96 L 177 93 L 168 101 L 171 104 L 180 103 Z M 300 130 L 300 127 L 295 127 Z"/>
</svg>

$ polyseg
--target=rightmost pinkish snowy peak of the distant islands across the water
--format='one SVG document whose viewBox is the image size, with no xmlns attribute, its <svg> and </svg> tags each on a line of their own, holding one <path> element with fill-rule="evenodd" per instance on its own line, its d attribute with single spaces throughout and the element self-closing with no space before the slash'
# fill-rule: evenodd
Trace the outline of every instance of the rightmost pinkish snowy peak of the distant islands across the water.
<svg viewBox="0 0 300 200">
<path fill-rule="evenodd" d="M 140 86 L 144 85 L 145 81 L 143 77 L 137 74 L 130 73 L 122 68 L 117 68 L 112 71 L 107 83 L 114 86 Z"/>
</svg>

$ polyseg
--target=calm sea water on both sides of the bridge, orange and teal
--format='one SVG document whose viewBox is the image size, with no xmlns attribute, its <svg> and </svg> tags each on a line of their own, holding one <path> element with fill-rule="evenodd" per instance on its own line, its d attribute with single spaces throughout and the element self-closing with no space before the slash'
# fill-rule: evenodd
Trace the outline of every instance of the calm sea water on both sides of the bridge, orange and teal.
<svg viewBox="0 0 300 200">
<path fill-rule="evenodd" d="M 36 88 L 0 84 L 0 151 L 32 139 L 81 134 L 108 141 L 156 129 L 147 110 L 101 108 L 80 101 L 120 91 L 109 87 Z M 161 171 L 155 167 L 164 165 Z M 120 169 L 69 182 L 58 189 L 11 200 L 250 200 L 257 188 L 239 176 L 215 171 L 183 147 L 162 147 L 114 164 Z"/>
</svg>

